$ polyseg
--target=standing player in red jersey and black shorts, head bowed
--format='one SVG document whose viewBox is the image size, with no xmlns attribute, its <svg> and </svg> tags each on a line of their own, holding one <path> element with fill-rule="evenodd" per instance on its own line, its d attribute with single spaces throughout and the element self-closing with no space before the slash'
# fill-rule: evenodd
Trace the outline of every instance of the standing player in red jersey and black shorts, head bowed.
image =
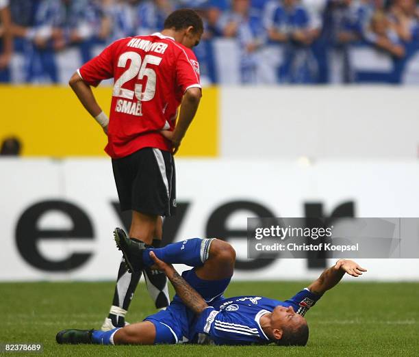
<svg viewBox="0 0 419 357">
<path fill-rule="evenodd" d="M 107 134 L 105 151 L 112 157 L 120 209 L 132 211 L 129 237 L 156 248 L 162 240 L 162 217 L 176 209 L 173 154 L 201 99 L 199 64 L 191 49 L 202 34 L 203 22 L 196 12 L 176 10 L 161 33 L 117 40 L 81 66 L 69 82 Z M 110 78 L 114 88 L 108 119 L 90 87 Z M 166 276 L 149 268 L 143 272 L 156 308 L 168 306 Z M 120 263 L 102 330 L 125 326 L 141 274 L 131 274 Z"/>
</svg>

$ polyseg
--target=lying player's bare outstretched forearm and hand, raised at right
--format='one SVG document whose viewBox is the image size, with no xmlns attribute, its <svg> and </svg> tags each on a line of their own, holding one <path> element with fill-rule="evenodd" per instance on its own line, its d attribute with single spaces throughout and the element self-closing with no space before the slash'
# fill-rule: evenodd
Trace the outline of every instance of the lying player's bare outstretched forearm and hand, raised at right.
<svg viewBox="0 0 419 357">
<path fill-rule="evenodd" d="M 308 289 L 312 293 L 321 295 L 338 284 L 345 273 L 356 278 L 357 276 L 361 276 L 362 272 L 366 272 L 366 269 L 360 267 L 355 261 L 340 259 L 333 267 L 329 267 L 329 269 L 322 272 L 318 279 L 309 285 Z"/>
</svg>

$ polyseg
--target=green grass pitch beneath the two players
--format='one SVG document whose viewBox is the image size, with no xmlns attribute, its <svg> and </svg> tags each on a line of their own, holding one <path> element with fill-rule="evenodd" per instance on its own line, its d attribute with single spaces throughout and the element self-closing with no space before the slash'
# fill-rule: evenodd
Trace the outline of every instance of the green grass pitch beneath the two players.
<svg viewBox="0 0 419 357">
<path fill-rule="evenodd" d="M 233 282 L 226 296 L 265 295 L 284 300 L 307 282 Z M 64 328 L 99 328 L 113 282 L 0 284 L 0 342 L 43 343 L 44 356 L 418 356 L 419 283 L 343 282 L 307 315 L 306 347 L 197 345 L 58 345 Z M 153 313 L 140 285 L 127 320 Z M 12 356 L 12 353 L 8 353 Z M 22 354 L 21 354 L 22 355 Z M 36 355 L 36 354 L 32 354 Z"/>
</svg>

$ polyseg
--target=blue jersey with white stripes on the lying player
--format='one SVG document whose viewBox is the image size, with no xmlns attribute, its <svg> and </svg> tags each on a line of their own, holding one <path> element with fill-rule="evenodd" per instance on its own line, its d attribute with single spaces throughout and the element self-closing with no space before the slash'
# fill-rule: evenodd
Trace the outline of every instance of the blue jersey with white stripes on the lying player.
<svg viewBox="0 0 419 357">
<path fill-rule="evenodd" d="M 192 329 L 195 341 L 209 336 L 216 345 L 250 345 L 270 343 L 260 326 L 260 318 L 277 306 L 292 306 L 304 316 L 321 295 L 303 289 L 289 300 L 280 301 L 261 296 L 236 296 L 218 300 L 196 319 Z"/>
</svg>

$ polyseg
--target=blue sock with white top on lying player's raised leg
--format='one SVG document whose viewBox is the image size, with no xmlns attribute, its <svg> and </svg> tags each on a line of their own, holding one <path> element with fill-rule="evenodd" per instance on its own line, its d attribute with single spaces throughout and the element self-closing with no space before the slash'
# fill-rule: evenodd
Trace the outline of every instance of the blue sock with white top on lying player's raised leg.
<svg viewBox="0 0 419 357">
<path fill-rule="evenodd" d="M 164 248 L 149 248 L 142 253 L 144 264 L 154 264 L 149 253 L 154 252 L 158 259 L 168 264 L 186 264 L 190 267 L 201 267 L 210 254 L 212 239 L 192 238 L 186 241 L 168 244 Z"/>
</svg>

